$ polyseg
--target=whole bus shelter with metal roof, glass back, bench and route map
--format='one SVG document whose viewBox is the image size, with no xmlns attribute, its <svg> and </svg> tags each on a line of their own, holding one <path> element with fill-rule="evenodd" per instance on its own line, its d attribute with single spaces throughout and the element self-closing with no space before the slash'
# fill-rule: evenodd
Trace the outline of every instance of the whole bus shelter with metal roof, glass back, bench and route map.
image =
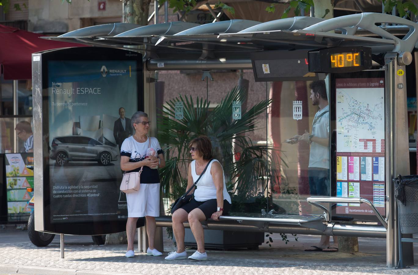
<svg viewBox="0 0 418 275">
<path fill-rule="evenodd" d="M 408 31 L 400 37 L 380 24 Z M 152 134 L 167 145 L 163 191 L 182 194 L 175 188 L 184 183 L 192 136 L 209 135 L 223 160 L 236 208 L 220 222 L 209 220 L 207 229 L 386 238 L 392 267 L 399 253 L 413 262 L 411 245 L 398 251 L 392 179 L 410 174 L 405 66 L 418 41 L 416 26 L 392 15 L 361 13 L 266 23 L 171 22 L 115 36 L 74 31 L 46 39 L 143 53 L 138 102 L 157 122 Z M 33 62 L 39 78 L 41 64 Z M 101 73 L 107 71 L 102 67 Z M 320 79 L 326 89 L 318 103 L 309 84 Z M 39 106 L 48 85 L 34 84 Z M 321 111 L 329 119 L 318 125 Z M 45 163 L 51 155 L 45 145 L 53 140 L 42 131 L 41 118 L 42 107 L 34 108 L 35 138 L 43 140 L 45 151 L 34 157 Z M 327 146 L 314 146 L 313 127 L 328 131 Z M 305 133 L 305 142 L 293 142 Z M 37 167 L 35 185 L 37 175 L 50 173 Z M 325 171 L 324 188 L 313 191 L 310 171 Z M 38 186 L 35 196 L 50 192 L 42 182 Z M 35 213 L 44 207 L 36 205 Z M 48 231 L 42 216 L 35 214 L 35 220 L 36 230 Z M 342 223 L 347 221 L 357 224 Z M 157 224 L 170 226 L 171 218 L 161 216 Z"/>
</svg>

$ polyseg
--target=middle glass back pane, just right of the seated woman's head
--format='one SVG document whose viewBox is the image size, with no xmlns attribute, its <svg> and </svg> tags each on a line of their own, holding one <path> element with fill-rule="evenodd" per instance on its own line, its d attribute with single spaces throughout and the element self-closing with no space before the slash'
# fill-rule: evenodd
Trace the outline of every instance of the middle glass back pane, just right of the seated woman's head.
<svg viewBox="0 0 418 275">
<path fill-rule="evenodd" d="M 231 195 L 232 213 L 268 211 L 266 82 L 252 70 L 211 71 L 208 81 L 209 136 Z"/>
</svg>

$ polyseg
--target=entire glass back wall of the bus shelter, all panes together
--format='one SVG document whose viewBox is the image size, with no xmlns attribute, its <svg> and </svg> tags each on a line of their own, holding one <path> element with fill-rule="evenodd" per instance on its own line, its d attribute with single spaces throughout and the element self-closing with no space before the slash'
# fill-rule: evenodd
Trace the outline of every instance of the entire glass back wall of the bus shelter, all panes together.
<svg viewBox="0 0 418 275">
<path fill-rule="evenodd" d="M 170 172 L 177 179 L 167 181 L 166 196 L 184 192 L 191 161 L 188 141 L 208 135 L 225 171 L 233 212 L 322 214 L 306 198 L 330 195 L 329 145 L 319 147 L 309 136 L 329 140 L 329 116 L 315 121 L 321 112 L 318 99 L 310 98 L 310 82 L 255 82 L 251 70 L 211 71 L 204 81 L 202 71 L 180 72 L 159 72 L 155 86 L 157 109 L 162 109 L 158 138 L 168 148 L 168 166 L 178 169 Z M 188 114 L 191 109 L 194 115 Z M 289 142 L 297 135 L 303 137 Z"/>
</svg>

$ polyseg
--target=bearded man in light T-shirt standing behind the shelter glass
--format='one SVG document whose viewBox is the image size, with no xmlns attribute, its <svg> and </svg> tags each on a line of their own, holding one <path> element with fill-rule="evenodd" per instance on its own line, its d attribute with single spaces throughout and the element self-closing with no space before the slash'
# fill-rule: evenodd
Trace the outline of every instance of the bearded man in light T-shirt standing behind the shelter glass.
<svg viewBox="0 0 418 275">
<path fill-rule="evenodd" d="M 306 142 L 311 145 L 309 151 L 308 178 L 311 196 L 329 196 L 329 105 L 324 80 L 313 81 L 311 89 L 312 105 L 318 106 L 312 132 L 305 130 L 303 135 L 295 135 L 291 143 Z M 333 247 L 329 247 L 329 236 L 322 236 L 317 246 L 311 246 L 305 251 L 338 251 L 338 240 L 334 237 Z"/>
</svg>

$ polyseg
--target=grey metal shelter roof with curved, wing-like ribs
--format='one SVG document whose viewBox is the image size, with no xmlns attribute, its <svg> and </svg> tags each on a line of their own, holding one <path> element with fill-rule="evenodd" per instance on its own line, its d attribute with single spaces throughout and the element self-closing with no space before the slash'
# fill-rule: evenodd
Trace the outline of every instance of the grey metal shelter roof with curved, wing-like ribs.
<svg viewBox="0 0 418 275">
<path fill-rule="evenodd" d="M 409 32 L 398 38 L 377 24 L 402 25 Z M 120 23 L 123 25 L 123 23 Z M 122 25 L 120 27 L 122 27 Z M 87 28 L 45 39 L 71 41 L 99 46 L 145 46 L 146 57 L 171 59 L 248 58 L 249 52 L 298 48 L 328 48 L 336 46 L 367 46 L 374 53 L 411 52 L 418 41 L 418 24 L 393 15 L 359 13 L 323 20 L 294 17 L 258 23 L 251 20 L 229 20 L 205 25 L 186 22 L 161 23 L 132 28 L 128 31 L 85 36 Z M 359 28 L 376 37 L 357 35 Z M 339 33 L 335 33 L 335 30 Z M 176 53 L 176 55 L 173 55 Z"/>
</svg>

